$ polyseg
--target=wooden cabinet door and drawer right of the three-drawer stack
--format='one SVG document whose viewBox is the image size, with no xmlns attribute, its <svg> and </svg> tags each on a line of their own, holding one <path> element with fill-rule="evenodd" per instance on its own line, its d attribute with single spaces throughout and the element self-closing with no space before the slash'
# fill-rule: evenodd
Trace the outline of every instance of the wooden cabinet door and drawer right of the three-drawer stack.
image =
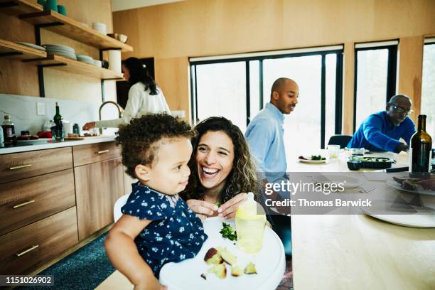
<svg viewBox="0 0 435 290">
<path fill-rule="evenodd" d="M 96 161 L 74 168 L 79 240 L 113 222 L 114 203 L 124 195 L 124 166 L 119 151 L 113 155 L 116 149 L 114 142 L 91 145 L 73 147 L 74 160 L 79 155 L 88 157 L 77 157 L 77 160 Z M 106 152 L 107 155 L 95 154 L 102 150 L 109 151 Z M 117 158 L 100 161 L 104 156 Z M 78 163 L 82 163 L 81 161 Z"/>
</svg>

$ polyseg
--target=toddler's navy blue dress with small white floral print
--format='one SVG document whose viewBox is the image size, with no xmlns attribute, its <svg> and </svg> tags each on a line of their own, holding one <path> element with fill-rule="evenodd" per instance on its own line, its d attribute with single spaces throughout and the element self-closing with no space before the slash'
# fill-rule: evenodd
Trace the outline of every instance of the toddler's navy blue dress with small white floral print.
<svg viewBox="0 0 435 290">
<path fill-rule="evenodd" d="M 207 235 L 203 222 L 177 195 L 166 195 L 137 182 L 121 208 L 124 215 L 152 220 L 134 239 L 139 254 L 159 278 L 161 267 L 195 257 Z"/>
</svg>

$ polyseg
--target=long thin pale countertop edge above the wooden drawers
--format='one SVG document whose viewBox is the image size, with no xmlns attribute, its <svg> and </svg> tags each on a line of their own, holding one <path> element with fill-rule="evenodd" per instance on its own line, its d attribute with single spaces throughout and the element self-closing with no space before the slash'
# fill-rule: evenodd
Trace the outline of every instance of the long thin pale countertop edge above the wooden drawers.
<svg viewBox="0 0 435 290">
<path fill-rule="evenodd" d="M 20 153 L 26 151 L 43 150 L 43 149 L 61 148 L 61 147 L 68 147 L 68 146 L 102 143 L 102 142 L 114 141 L 114 139 L 115 139 L 114 135 L 107 135 L 107 136 L 103 135 L 103 136 L 95 136 L 95 137 L 85 137 L 84 140 L 53 142 L 53 143 L 35 144 L 29 146 L 6 147 L 0 149 L 0 155 L 9 154 L 9 153 Z"/>
</svg>

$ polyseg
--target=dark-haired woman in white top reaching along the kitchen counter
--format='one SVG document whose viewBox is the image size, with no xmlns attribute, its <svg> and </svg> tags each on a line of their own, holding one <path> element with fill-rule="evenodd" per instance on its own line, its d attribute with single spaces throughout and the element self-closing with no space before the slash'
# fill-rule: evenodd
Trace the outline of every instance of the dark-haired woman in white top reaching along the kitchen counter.
<svg viewBox="0 0 435 290">
<path fill-rule="evenodd" d="M 130 85 L 124 117 L 88 122 L 83 125 L 83 130 L 90 130 L 95 127 L 119 127 L 122 124 L 129 124 L 130 120 L 134 117 L 141 117 L 148 113 L 166 112 L 171 114 L 163 92 L 138 58 L 127 58 L 127 60 L 124 60 L 122 72 Z"/>
</svg>

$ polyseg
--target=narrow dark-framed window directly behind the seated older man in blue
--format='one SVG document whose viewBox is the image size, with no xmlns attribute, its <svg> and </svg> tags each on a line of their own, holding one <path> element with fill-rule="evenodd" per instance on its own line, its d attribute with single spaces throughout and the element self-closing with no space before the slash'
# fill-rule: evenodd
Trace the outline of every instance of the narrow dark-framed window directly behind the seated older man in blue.
<svg viewBox="0 0 435 290">
<path fill-rule="evenodd" d="M 396 93 L 397 41 L 355 45 L 353 131 Z"/>
</svg>

